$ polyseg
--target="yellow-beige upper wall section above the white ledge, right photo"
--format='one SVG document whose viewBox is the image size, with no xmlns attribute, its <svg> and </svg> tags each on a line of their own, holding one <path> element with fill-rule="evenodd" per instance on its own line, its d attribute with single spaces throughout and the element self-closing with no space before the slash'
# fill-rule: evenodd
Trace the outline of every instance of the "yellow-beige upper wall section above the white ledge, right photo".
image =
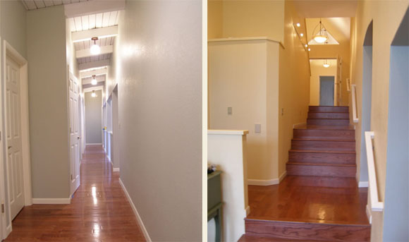
<svg viewBox="0 0 409 242">
<path fill-rule="evenodd" d="M 269 37 L 283 40 L 284 1 L 209 0 L 209 39 Z"/>
</svg>

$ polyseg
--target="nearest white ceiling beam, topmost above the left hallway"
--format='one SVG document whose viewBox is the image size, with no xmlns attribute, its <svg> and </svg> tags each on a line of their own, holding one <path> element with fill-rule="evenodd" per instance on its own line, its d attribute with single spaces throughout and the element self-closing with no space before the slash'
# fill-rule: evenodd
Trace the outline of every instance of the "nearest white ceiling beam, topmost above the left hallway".
<svg viewBox="0 0 409 242">
<path fill-rule="evenodd" d="M 125 0 L 90 0 L 64 5 L 67 18 L 74 18 L 97 13 L 121 11 L 125 9 Z"/>
</svg>

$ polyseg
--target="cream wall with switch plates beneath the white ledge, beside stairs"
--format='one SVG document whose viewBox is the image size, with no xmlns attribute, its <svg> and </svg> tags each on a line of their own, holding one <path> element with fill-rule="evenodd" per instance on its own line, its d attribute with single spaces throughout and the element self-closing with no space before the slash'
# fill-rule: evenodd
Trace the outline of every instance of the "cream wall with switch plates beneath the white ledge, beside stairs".
<svg viewBox="0 0 409 242">
<path fill-rule="evenodd" d="M 250 180 L 277 178 L 278 157 L 268 141 L 276 140 L 278 122 L 267 110 L 274 112 L 278 104 L 278 56 L 279 44 L 269 40 L 209 42 L 209 127 L 250 132 Z M 261 133 L 255 133 L 256 123 Z"/>
</svg>

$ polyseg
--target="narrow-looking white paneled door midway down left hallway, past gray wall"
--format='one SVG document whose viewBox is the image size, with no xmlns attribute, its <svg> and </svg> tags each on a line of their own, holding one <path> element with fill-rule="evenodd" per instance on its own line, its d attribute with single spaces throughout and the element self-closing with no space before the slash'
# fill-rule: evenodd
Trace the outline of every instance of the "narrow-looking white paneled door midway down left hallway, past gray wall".
<svg viewBox="0 0 409 242">
<path fill-rule="evenodd" d="M 69 124 L 70 124 L 70 163 L 71 163 L 71 194 L 80 186 L 80 128 L 78 111 L 77 78 L 69 74 Z"/>
</svg>

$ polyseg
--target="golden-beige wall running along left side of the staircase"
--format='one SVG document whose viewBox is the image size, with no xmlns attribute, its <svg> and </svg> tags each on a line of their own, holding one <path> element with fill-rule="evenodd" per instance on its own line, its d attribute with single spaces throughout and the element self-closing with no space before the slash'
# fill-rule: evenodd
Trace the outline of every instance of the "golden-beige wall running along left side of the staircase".
<svg viewBox="0 0 409 242">
<path fill-rule="evenodd" d="M 298 39 L 293 23 L 302 23 L 292 1 L 286 1 L 284 47 L 280 48 L 279 64 L 279 176 L 286 171 L 291 149 L 293 125 L 305 123 L 310 102 L 310 67 L 308 53 Z M 305 30 L 303 30 L 305 31 Z M 283 109 L 283 114 L 281 114 Z"/>
</svg>

